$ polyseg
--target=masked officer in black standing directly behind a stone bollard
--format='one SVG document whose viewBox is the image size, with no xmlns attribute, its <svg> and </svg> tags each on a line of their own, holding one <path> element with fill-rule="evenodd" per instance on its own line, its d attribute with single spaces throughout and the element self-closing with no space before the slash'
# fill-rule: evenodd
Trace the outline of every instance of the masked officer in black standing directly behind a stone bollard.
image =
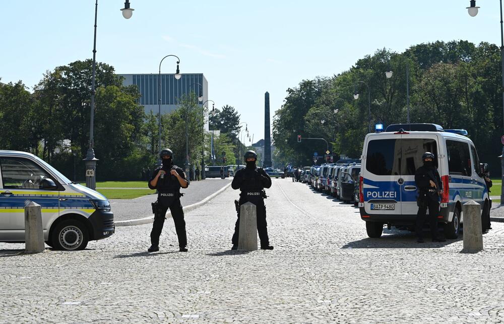
<svg viewBox="0 0 504 324">
<path fill-rule="evenodd" d="M 233 182 L 231 183 L 231 187 L 233 189 L 240 189 L 240 200 L 237 203 L 235 201 L 238 219 L 236 220 L 236 225 L 234 226 L 234 234 L 232 238 L 233 247 L 231 250 L 238 249 L 240 206 L 246 202 L 251 202 L 256 205 L 257 231 L 259 232 L 259 238 L 261 240 L 261 249 L 273 250 L 273 247 L 270 246 L 270 240 L 268 238 L 266 206 L 264 205 L 264 199 L 266 198 L 264 188 L 271 187 L 271 179 L 262 168 L 256 167 L 256 161 L 256 152 L 247 151 L 245 153 L 246 167 L 236 171 Z"/>
</svg>

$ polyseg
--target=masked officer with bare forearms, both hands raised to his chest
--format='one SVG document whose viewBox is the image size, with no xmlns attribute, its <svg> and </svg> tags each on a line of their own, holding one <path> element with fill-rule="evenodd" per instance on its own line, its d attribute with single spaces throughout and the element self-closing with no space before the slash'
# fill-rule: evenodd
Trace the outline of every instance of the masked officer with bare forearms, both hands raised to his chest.
<svg viewBox="0 0 504 324">
<path fill-rule="evenodd" d="M 157 189 L 158 200 L 153 203 L 154 223 L 151 231 L 151 247 L 149 252 L 159 251 L 159 236 L 163 229 L 166 211 L 170 208 L 171 217 L 175 222 L 180 252 L 187 252 L 187 235 L 185 233 L 184 212 L 180 204 L 180 188 L 187 188 L 189 181 L 185 179 L 182 169 L 173 165 L 173 152 L 164 148 L 159 153 L 163 165 L 152 174 L 149 188 Z"/>
</svg>

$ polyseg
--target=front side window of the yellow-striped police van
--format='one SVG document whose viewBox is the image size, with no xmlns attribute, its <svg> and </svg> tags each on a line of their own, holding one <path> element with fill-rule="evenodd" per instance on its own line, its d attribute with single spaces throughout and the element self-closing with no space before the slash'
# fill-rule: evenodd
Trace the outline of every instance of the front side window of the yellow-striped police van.
<svg viewBox="0 0 504 324">
<path fill-rule="evenodd" d="M 38 164 L 23 157 L 0 158 L 4 189 L 39 189 L 49 175 Z"/>
</svg>

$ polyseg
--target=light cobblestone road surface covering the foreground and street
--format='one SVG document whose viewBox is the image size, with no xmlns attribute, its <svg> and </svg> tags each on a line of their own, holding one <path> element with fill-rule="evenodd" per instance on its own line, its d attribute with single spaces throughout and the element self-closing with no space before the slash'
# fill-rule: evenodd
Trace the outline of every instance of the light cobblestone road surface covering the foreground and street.
<svg viewBox="0 0 504 324">
<path fill-rule="evenodd" d="M 273 180 L 268 194 L 273 251 L 229 250 L 230 188 L 186 214 L 188 253 L 176 252 L 170 219 L 155 254 L 145 252 L 151 225 L 119 227 L 82 252 L 0 244 L 0 322 L 504 320 L 503 223 L 466 254 L 460 239 L 367 238 L 356 208 L 301 183 Z"/>
</svg>

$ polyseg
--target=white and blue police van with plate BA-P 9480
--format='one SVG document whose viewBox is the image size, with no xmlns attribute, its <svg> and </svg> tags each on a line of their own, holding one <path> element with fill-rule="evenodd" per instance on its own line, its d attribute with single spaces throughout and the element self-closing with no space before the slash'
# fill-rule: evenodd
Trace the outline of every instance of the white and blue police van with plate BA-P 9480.
<svg viewBox="0 0 504 324">
<path fill-rule="evenodd" d="M 409 226 L 415 223 L 418 194 L 415 171 L 422 166 L 422 154 L 435 155 L 434 164 L 443 183 L 438 222 L 445 235 L 457 238 L 463 222 L 462 205 L 478 202 L 483 215 L 491 200 L 478 154 L 465 130 L 444 130 L 436 124 L 396 124 L 383 133 L 367 134 L 362 149 L 359 178 L 360 217 L 369 237 L 380 237 L 383 225 Z"/>
</svg>

